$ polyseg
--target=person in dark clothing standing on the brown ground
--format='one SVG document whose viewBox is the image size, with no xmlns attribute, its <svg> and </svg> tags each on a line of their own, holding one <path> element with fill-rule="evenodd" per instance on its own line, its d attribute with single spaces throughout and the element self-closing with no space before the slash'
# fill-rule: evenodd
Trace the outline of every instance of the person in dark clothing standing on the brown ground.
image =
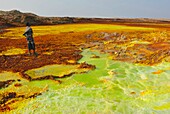
<svg viewBox="0 0 170 114">
<path fill-rule="evenodd" d="M 23 35 L 26 37 L 26 40 L 27 40 L 29 54 L 32 55 L 31 50 L 33 50 L 33 54 L 37 56 L 37 53 L 35 52 L 33 30 L 31 28 L 30 23 L 28 22 L 26 23 L 26 30 Z"/>
</svg>

